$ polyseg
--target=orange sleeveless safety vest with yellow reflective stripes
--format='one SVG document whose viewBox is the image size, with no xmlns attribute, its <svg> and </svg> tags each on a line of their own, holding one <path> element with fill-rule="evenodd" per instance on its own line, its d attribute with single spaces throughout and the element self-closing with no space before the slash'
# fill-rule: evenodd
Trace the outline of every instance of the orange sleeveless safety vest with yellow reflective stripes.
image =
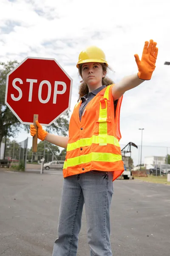
<svg viewBox="0 0 170 256">
<path fill-rule="evenodd" d="M 63 175 L 68 177 L 91 170 L 113 172 L 113 180 L 124 171 L 119 140 L 120 107 L 118 100 L 116 117 L 111 84 L 91 99 L 79 120 L 77 103 L 69 124 L 67 154 L 63 166 Z"/>
</svg>

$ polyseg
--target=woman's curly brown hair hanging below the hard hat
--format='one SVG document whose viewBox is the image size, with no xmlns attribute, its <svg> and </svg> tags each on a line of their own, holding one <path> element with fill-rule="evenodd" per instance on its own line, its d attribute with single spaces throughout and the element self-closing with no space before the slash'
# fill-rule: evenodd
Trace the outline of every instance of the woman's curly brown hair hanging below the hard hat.
<svg viewBox="0 0 170 256">
<path fill-rule="evenodd" d="M 101 64 L 102 65 L 102 69 L 103 71 L 105 71 L 107 73 L 108 69 L 110 69 L 108 66 L 106 66 L 106 64 Z M 82 77 L 82 65 L 79 65 L 79 75 Z M 80 85 L 79 85 L 79 99 L 77 102 L 79 102 L 80 98 L 83 97 L 85 94 L 88 94 L 88 85 L 84 82 L 84 81 L 80 81 Z M 102 85 L 110 85 L 110 84 L 114 84 L 113 80 L 108 78 L 107 76 L 105 76 L 104 78 L 102 78 Z"/>
</svg>

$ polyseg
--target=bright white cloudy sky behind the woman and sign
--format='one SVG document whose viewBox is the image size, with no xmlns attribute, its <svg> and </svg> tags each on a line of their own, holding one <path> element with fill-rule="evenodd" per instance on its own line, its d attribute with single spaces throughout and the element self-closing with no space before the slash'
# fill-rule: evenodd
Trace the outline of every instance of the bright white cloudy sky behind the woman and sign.
<svg viewBox="0 0 170 256">
<path fill-rule="evenodd" d="M 79 53 L 90 45 L 105 52 L 119 82 L 138 72 L 134 54 L 141 58 L 144 41 L 153 39 L 159 48 L 156 70 L 150 81 L 124 94 L 121 108 L 121 147 L 141 145 L 145 156 L 170 154 L 170 3 L 167 0 L 1 0 L 0 61 L 24 58 L 55 58 L 72 77 L 71 112 L 78 99 L 76 63 Z M 29 134 L 16 137 L 22 141 Z M 31 139 L 29 139 L 31 145 Z M 161 148 L 162 147 L 162 148 Z M 139 161 L 139 150 L 132 158 Z"/>
</svg>

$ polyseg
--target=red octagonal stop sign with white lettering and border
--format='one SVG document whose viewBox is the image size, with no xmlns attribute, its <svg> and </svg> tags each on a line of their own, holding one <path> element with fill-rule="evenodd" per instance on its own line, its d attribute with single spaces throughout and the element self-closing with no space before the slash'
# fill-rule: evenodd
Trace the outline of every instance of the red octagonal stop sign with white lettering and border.
<svg viewBox="0 0 170 256">
<path fill-rule="evenodd" d="M 22 124 L 51 125 L 71 104 L 72 79 L 50 58 L 26 58 L 7 75 L 5 103 Z"/>
</svg>

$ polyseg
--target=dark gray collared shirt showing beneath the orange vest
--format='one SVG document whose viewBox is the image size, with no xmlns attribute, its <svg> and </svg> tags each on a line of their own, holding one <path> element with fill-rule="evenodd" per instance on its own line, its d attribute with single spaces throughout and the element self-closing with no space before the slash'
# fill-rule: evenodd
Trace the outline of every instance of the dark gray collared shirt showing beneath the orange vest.
<svg viewBox="0 0 170 256">
<path fill-rule="evenodd" d="M 81 104 L 81 106 L 79 108 L 79 119 L 80 119 L 80 121 L 82 119 L 82 113 L 85 110 L 85 107 L 87 106 L 88 102 L 90 102 L 96 96 L 96 94 L 99 93 L 105 87 L 106 87 L 106 85 L 103 85 L 103 86 L 97 88 L 96 90 L 94 90 L 94 91 L 92 91 L 92 92 L 90 92 L 88 94 L 85 94 L 85 96 L 81 97 L 82 104 Z M 116 111 L 117 102 L 118 102 L 118 99 L 116 99 L 114 101 L 114 109 L 115 109 L 115 111 Z"/>
</svg>

